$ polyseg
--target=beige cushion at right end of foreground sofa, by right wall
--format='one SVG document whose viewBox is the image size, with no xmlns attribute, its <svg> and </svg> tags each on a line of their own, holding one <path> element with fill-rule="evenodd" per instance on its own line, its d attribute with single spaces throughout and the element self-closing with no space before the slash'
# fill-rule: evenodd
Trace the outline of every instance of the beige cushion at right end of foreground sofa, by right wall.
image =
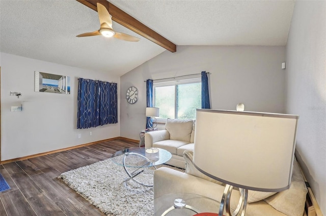
<svg viewBox="0 0 326 216">
<path fill-rule="evenodd" d="M 293 161 L 291 185 L 288 190 L 270 196 L 264 201 L 278 211 L 288 215 L 302 215 L 308 190 L 297 161 Z"/>
</svg>

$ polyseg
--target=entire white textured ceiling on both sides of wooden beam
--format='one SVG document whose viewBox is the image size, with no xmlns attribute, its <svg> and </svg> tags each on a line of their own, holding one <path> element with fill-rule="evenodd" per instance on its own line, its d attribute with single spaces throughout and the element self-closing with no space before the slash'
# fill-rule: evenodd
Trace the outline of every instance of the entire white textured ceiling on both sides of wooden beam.
<svg viewBox="0 0 326 216">
<path fill-rule="evenodd" d="M 285 45 L 294 1 L 109 1 L 176 45 Z M 165 51 L 113 22 L 127 42 L 101 36 L 97 12 L 74 1 L 0 1 L 0 51 L 122 75 Z"/>
</svg>

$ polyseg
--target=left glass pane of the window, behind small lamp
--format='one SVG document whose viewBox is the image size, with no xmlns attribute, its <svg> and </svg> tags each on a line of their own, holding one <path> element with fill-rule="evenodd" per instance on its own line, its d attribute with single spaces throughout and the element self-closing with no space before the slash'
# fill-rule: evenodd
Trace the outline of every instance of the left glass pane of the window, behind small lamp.
<svg viewBox="0 0 326 216">
<path fill-rule="evenodd" d="M 159 118 L 174 119 L 174 86 L 155 87 L 155 107 L 159 107 Z"/>
</svg>

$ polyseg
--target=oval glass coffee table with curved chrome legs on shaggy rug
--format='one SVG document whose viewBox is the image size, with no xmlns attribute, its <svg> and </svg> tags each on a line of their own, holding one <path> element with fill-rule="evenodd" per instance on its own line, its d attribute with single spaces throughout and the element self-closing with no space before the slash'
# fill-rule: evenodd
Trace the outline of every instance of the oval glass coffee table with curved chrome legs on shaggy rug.
<svg viewBox="0 0 326 216">
<path fill-rule="evenodd" d="M 156 169 L 155 166 L 166 163 L 171 157 L 172 154 L 165 149 L 134 147 L 117 151 L 111 158 L 115 164 L 123 166 L 126 171 L 128 177 L 124 181 L 132 179 L 141 185 L 152 187 L 153 184 L 141 182 L 135 177 L 145 169 L 151 167 Z"/>
</svg>

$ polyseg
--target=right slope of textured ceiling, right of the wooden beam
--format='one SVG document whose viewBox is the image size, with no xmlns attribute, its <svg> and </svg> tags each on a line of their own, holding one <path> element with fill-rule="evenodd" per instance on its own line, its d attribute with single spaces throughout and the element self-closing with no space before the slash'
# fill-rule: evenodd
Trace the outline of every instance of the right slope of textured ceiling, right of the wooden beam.
<svg viewBox="0 0 326 216">
<path fill-rule="evenodd" d="M 285 45 L 294 1 L 109 1 L 177 45 Z"/>
</svg>

